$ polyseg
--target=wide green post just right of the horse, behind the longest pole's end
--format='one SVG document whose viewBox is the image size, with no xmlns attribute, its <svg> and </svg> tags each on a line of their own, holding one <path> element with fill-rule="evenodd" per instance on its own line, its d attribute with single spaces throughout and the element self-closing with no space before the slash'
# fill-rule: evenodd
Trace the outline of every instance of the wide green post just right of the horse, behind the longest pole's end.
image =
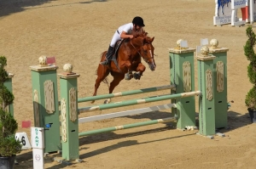
<svg viewBox="0 0 256 169">
<path fill-rule="evenodd" d="M 170 48 L 171 84 L 176 85 L 171 93 L 187 93 L 195 91 L 194 70 L 195 48 Z M 172 99 L 172 116 L 177 115 L 177 128 L 195 127 L 195 97 Z"/>
</svg>

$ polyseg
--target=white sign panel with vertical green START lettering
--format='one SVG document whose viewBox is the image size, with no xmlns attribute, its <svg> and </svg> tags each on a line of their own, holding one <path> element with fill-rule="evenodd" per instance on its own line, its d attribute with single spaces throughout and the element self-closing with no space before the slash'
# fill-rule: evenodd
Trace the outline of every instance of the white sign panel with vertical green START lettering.
<svg viewBox="0 0 256 169">
<path fill-rule="evenodd" d="M 44 149 L 44 128 L 31 127 L 32 148 Z"/>
</svg>

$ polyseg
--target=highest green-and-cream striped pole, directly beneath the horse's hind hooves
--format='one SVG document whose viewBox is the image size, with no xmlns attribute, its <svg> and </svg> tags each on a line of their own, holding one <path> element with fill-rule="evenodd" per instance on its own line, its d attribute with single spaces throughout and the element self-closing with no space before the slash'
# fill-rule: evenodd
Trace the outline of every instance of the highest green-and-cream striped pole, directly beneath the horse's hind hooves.
<svg viewBox="0 0 256 169">
<path fill-rule="evenodd" d="M 176 87 L 175 85 L 166 85 L 166 86 L 161 86 L 161 87 L 143 88 L 143 89 L 125 91 L 125 92 L 120 92 L 120 93 L 109 93 L 109 94 L 103 94 L 103 95 L 98 95 L 98 96 L 80 98 L 80 99 L 78 99 L 78 102 L 81 103 L 81 102 L 88 102 L 88 101 L 93 101 L 93 100 L 98 100 L 98 99 L 110 99 L 110 98 L 114 98 L 114 97 L 128 96 L 128 95 L 132 95 L 132 94 L 150 93 L 150 92 L 156 92 L 156 91 L 160 91 L 160 90 L 173 89 L 175 87 Z"/>
</svg>

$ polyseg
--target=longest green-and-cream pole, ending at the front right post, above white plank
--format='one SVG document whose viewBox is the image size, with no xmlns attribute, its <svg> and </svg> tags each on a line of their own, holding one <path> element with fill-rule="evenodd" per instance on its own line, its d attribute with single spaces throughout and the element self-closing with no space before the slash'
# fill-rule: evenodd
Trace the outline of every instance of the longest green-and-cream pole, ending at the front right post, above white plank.
<svg viewBox="0 0 256 169">
<path fill-rule="evenodd" d="M 156 102 L 156 101 L 161 101 L 161 100 L 166 100 L 166 99 L 186 98 L 186 97 L 191 97 L 191 96 L 195 96 L 195 95 L 199 95 L 199 94 L 201 94 L 201 91 L 178 93 L 178 94 L 168 94 L 168 95 L 160 96 L 157 98 L 132 99 L 132 100 L 127 100 L 127 101 L 113 103 L 113 104 L 101 104 L 101 105 L 96 105 L 96 106 L 92 106 L 92 107 L 79 108 L 79 113 L 95 111 L 95 110 L 107 110 L 107 109 L 123 107 L 123 106 L 128 106 L 128 105 L 134 105 L 134 104 L 145 104 L 145 103 Z"/>
</svg>

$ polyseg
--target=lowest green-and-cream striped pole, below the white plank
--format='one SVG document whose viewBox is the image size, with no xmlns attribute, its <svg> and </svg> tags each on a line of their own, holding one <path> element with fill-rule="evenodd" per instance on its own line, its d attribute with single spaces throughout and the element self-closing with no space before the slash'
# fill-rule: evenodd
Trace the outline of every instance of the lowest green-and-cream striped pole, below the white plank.
<svg viewBox="0 0 256 169">
<path fill-rule="evenodd" d="M 117 127 L 101 128 L 101 129 L 97 129 L 97 130 L 91 130 L 88 132 L 79 132 L 79 137 L 89 136 L 89 135 L 98 134 L 98 133 L 102 133 L 102 132 L 113 132 L 116 130 L 123 130 L 123 129 L 133 128 L 133 127 L 143 127 L 143 126 L 153 125 L 153 124 L 157 124 L 157 123 L 165 123 L 165 122 L 176 121 L 176 120 L 177 120 L 176 117 L 168 117 L 168 118 L 157 119 L 157 120 L 153 120 L 153 121 L 143 121 L 143 122 L 131 123 L 131 124 L 126 124 L 126 125 L 117 126 Z"/>
</svg>

